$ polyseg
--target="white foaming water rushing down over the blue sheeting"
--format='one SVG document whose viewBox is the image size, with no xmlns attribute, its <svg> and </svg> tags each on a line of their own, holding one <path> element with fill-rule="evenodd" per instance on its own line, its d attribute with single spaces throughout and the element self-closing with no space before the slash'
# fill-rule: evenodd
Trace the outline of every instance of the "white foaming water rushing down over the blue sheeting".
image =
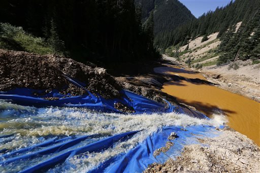
<svg viewBox="0 0 260 173">
<path fill-rule="evenodd" d="M 76 165 L 70 169 L 71 172 L 88 171 L 101 162 L 134 148 L 147 136 L 165 126 L 209 125 L 218 127 L 226 123 L 223 115 L 214 115 L 212 119 L 198 119 L 176 113 L 123 115 L 99 113 L 81 108 L 37 109 L 16 106 L 3 100 L 0 103 L 4 104 L 0 107 L 2 122 L 0 134 L 16 134 L 11 142 L 1 144 L 0 149 L 19 149 L 31 146 L 42 142 L 39 137 L 48 135 L 99 134 L 108 136 L 142 130 L 131 139 L 117 143 L 114 148 L 100 153 L 85 153 L 84 155 L 87 157 L 83 158 L 79 158 L 79 156 L 70 158 L 70 163 Z M 1 115 L 6 114 L 6 111 L 13 111 L 15 114 L 12 115 L 15 116 L 9 115 L 2 118 Z"/>
</svg>

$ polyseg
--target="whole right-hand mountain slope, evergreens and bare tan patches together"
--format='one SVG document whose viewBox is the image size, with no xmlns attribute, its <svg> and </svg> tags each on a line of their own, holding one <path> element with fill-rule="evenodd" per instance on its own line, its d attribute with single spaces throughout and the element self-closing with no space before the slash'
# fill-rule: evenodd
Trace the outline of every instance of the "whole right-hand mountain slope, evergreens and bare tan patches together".
<svg viewBox="0 0 260 173">
<path fill-rule="evenodd" d="M 259 28 L 260 1 L 236 0 L 172 30 L 169 36 L 172 46 L 167 45 L 166 53 L 184 58 L 189 65 L 198 62 L 203 66 L 220 65 L 237 59 L 255 61 L 260 59 Z M 214 63 L 208 63 L 211 58 Z"/>
</svg>

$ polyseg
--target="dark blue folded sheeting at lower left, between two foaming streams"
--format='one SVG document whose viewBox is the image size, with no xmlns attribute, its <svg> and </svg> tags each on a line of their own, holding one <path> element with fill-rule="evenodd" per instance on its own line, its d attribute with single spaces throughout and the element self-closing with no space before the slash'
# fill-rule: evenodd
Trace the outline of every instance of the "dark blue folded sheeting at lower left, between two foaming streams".
<svg viewBox="0 0 260 173">
<path fill-rule="evenodd" d="M 39 170 L 48 170 L 48 168 L 55 166 L 56 164 L 64 162 L 67 158 L 73 157 L 74 155 L 79 155 L 86 152 L 100 152 L 106 150 L 114 145 L 114 143 L 123 141 L 127 137 L 131 137 L 138 131 L 125 132 L 121 134 L 116 134 L 114 136 L 106 137 L 105 139 L 87 144 L 79 145 L 87 139 L 92 139 L 94 136 L 69 136 L 64 137 L 59 140 L 52 139 L 46 141 L 42 144 L 35 146 L 23 148 L 7 154 L 1 155 L 0 162 L 1 166 L 13 162 L 26 161 L 28 159 L 32 160 L 35 157 L 42 157 L 44 155 L 51 155 L 51 158 L 42 160 L 40 163 L 27 167 L 20 172 L 36 172 Z M 83 143 L 84 144 L 84 143 Z M 37 149 L 34 151 L 34 149 Z"/>
</svg>

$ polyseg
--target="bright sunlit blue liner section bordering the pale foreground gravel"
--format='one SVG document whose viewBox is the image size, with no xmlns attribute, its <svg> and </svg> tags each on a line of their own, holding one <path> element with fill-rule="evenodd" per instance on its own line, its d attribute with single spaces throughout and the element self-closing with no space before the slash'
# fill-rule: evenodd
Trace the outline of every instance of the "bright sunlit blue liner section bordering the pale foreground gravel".
<svg viewBox="0 0 260 173">
<path fill-rule="evenodd" d="M 169 158 L 179 156 L 184 145 L 198 144 L 197 137 L 214 137 L 220 134 L 211 126 L 189 126 L 187 131 L 181 130 L 180 126 L 164 127 L 160 131 L 148 136 L 147 139 L 134 149 L 109 159 L 90 172 L 143 172 L 149 164 L 154 162 L 164 163 Z M 174 146 L 166 153 L 154 157 L 156 149 L 165 147 L 168 136 L 176 132 L 179 137 L 171 142 Z"/>
</svg>

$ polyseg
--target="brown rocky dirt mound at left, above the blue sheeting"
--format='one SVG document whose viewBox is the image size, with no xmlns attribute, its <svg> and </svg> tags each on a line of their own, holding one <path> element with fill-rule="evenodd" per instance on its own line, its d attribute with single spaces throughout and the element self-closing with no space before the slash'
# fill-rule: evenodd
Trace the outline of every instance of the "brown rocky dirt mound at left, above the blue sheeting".
<svg viewBox="0 0 260 173">
<path fill-rule="evenodd" d="M 86 84 L 92 93 L 104 98 L 119 97 L 121 86 L 104 68 L 93 68 L 57 55 L 37 55 L 0 49 L 0 91 L 13 88 L 62 89 L 64 93 L 82 95 L 85 91 L 71 85 L 63 73 Z"/>
</svg>

